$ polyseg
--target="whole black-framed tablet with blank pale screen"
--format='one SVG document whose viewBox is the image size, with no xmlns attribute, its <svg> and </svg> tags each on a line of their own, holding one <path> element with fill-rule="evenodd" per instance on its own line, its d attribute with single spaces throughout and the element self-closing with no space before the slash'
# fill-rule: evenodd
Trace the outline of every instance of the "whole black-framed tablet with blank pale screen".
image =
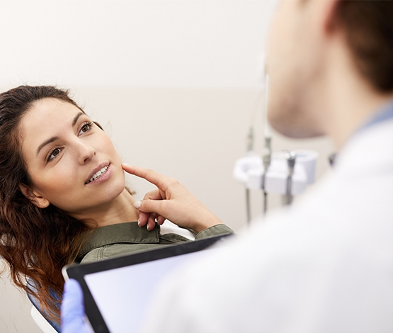
<svg viewBox="0 0 393 333">
<path fill-rule="evenodd" d="M 94 332 L 138 332 L 141 320 L 149 311 L 149 301 L 166 274 L 181 264 L 218 251 L 226 236 L 166 245 L 91 264 L 64 266 L 62 271 L 66 280 L 79 281 L 84 291 L 86 317 Z"/>
</svg>

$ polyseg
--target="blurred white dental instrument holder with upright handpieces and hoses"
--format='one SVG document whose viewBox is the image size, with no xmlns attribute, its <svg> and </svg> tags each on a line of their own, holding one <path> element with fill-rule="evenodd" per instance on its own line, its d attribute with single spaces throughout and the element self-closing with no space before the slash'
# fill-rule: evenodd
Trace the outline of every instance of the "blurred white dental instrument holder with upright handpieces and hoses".
<svg viewBox="0 0 393 333">
<path fill-rule="evenodd" d="M 261 62 L 265 64 L 264 57 Z M 234 179 L 246 188 L 247 222 L 251 222 L 251 190 L 263 191 L 263 213 L 268 210 L 268 193 L 279 193 L 283 204 L 290 205 L 293 196 L 305 191 L 315 181 L 318 153 L 314 150 L 295 150 L 272 153 L 272 133 L 268 122 L 268 98 L 270 78 L 263 67 L 263 90 L 256 96 L 251 116 L 251 126 L 247 135 L 247 156 L 238 159 L 234 165 Z M 261 154 L 254 153 L 254 120 L 264 96 L 263 137 L 264 147 Z"/>
</svg>

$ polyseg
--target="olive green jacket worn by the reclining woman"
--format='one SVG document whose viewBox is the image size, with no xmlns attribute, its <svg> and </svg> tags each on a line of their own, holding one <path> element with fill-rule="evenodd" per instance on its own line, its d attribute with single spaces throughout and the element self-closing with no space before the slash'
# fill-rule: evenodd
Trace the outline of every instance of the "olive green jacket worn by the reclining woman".
<svg viewBox="0 0 393 333">
<path fill-rule="evenodd" d="M 199 232 L 195 239 L 229 233 L 234 232 L 226 225 L 214 225 Z M 146 227 L 139 227 L 137 222 L 107 225 L 98 227 L 87 235 L 76 262 L 86 264 L 181 242 L 190 242 L 190 239 L 177 234 L 161 235 L 159 225 L 151 231 L 147 231 Z"/>
</svg>

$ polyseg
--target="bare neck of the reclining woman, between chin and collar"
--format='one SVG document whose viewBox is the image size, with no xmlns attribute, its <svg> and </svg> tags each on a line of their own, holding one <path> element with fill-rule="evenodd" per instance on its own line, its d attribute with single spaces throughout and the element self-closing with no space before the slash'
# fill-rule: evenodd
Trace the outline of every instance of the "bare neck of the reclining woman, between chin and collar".
<svg viewBox="0 0 393 333">
<path fill-rule="evenodd" d="M 95 207 L 93 211 L 84 214 L 84 216 L 74 217 L 78 220 L 93 221 L 91 225 L 94 227 L 137 221 L 139 213 L 132 205 L 134 201 L 135 199 L 131 193 L 127 189 L 124 189 L 113 201 Z"/>
</svg>

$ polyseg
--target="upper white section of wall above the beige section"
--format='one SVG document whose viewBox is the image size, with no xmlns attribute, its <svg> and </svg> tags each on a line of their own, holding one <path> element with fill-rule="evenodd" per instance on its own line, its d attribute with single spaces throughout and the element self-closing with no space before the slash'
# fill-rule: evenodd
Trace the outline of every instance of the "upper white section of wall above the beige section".
<svg viewBox="0 0 393 333">
<path fill-rule="evenodd" d="M 0 84 L 256 86 L 272 0 L 0 1 Z"/>
</svg>

